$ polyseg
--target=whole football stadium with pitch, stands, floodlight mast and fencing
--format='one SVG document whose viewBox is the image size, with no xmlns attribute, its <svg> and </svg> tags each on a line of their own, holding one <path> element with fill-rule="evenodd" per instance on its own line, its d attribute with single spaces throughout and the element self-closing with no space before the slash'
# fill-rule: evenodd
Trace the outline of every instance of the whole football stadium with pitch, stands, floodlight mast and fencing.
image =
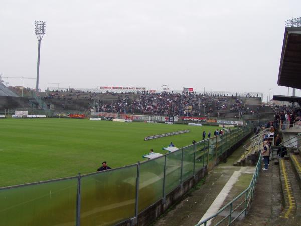
<svg viewBox="0 0 301 226">
<path fill-rule="evenodd" d="M 300 21 L 272 81 L 292 96 L 267 101 L 193 82 L 43 90 L 35 21 L 36 86 L 0 74 L 0 225 L 299 225 Z"/>
</svg>

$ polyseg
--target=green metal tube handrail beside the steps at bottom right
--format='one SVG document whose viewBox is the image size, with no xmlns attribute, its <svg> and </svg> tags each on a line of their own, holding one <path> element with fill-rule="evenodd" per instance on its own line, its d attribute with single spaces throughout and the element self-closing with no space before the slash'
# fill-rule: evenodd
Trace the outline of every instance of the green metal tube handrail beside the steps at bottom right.
<svg viewBox="0 0 301 226">
<path fill-rule="evenodd" d="M 260 143 L 262 143 L 262 141 Z M 259 152 L 260 152 L 260 150 L 259 150 Z M 217 213 L 208 217 L 207 219 L 200 221 L 198 224 L 196 224 L 196 226 L 200 226 L 200 225 L 206 226 L 207 223 L 211 222 L 212 220 L 217 221 L 217 222 L 214 222 L 214 225 L 219 225 L 219 224 L 223 223 L 224 221 L 226 221 L 227 225 L 231 225 L 231 223 L 233 223 L 241 214 L 244 214 L 246 216 L 247 211 L 251 207 L 251 203 L 253 201 L 254 191 L 256 188 L 256 183 L 257 183 L 257 179 L 258 179 L 258 175 L 259 175 L 259 171 L 260 171 L 260 166 L 261 166 L 261 152 L 259 155 L 258 162 L 256 164 L 255 172 L 253 174 L 252 180 L 251 180 L 248 188 L 246 188 L 236 198 L 234 198 L 232 201 L 230 201 L 228 204 L 226 204 L 224 207 L 222 207 L 219 211 L 217 211 Z M 238 212 L 238 214 L 235 214 L 236 215 L 235 217 L 232 216 L 234 211 Z M 222 212 L 223 212 L 223 214 L 221 214 Z M 226 216 L 225 216 L 225 212 L 228 212 Z M 217 218 L 219 216 L 221 217 L 221 219 Z"/>
</svg>

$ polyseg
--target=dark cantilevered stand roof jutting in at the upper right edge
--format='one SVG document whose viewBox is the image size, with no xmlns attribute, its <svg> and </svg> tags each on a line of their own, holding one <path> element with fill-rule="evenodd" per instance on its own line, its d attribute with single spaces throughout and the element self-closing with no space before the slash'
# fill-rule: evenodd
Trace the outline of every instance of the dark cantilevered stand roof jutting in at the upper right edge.
<svg viewBox="0 0 301 226">
<path fill-rule="evenodd" d="M 278 85 L 301 89 L 301 28 L 285 28 Z"/>
</svg>

